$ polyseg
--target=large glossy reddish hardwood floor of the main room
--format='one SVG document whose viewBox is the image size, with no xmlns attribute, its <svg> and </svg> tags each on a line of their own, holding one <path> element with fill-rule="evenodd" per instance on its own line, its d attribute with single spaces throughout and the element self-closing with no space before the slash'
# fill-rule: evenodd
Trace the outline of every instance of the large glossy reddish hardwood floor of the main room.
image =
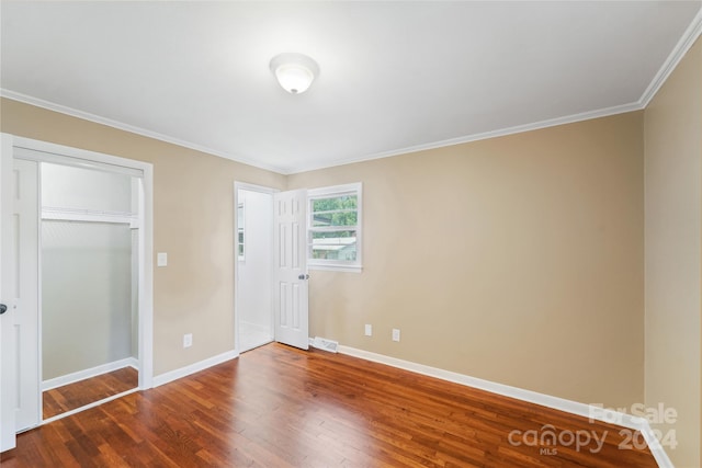
<svg viewBox="0 0 702 468">
<path fill-rule="evenodd" d="M 523 437 L 543 438 L 548 430 L 561 441 L 556 445 L 544 438 L 533 446 L 534 437 Z M 20 434 L 18 448 L 1 460 L 3 468 L 655 467 L 647 448 L 619 449 L 620 430 L 350 356 L 273 343 Z M 599 450 L 592 441 L 578 449 L 568 434 L 596 434 L 604 443 Z"/>
</svg>

